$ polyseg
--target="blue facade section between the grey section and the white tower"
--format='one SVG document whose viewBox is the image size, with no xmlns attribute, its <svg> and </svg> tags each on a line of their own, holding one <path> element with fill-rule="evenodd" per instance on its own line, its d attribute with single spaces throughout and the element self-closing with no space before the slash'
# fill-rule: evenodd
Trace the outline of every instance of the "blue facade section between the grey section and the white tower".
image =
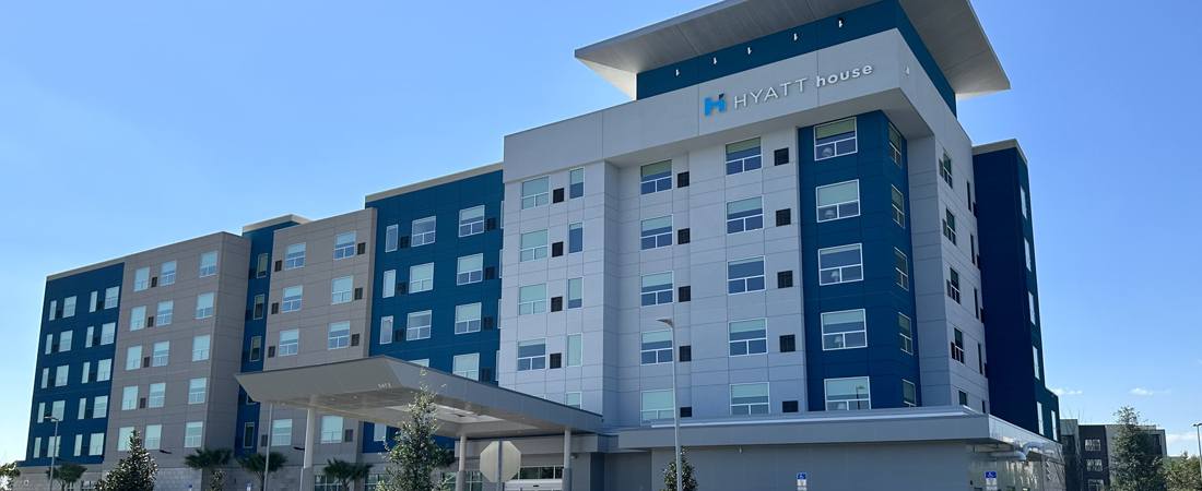
<svg viewBox="0 0 1202 491">
<path fill-rule="evenodd" d="M 452 372 L 456 355 L 478 353 L 482 382 L 496 383 L 496 352 L 500 349 L 496 319 L 501 299 L 502 245 L 499 224 L 504 196 L 501 170 L 496 170 L 367 203 L 367 208 L 376 209 L 377 227 L 374 265 L 376 285 L 371 301 L 371 336 L 368 341 L 370 355 L 388 355 L 410 361 L 429 360 L 432 369 Z M 459 211 L 481 205 L 484 206 L 484 230 L 459 236 Z M 409 245 L 412 222 L 432 216 L 436 217 L 434 242 Z M 399 229 L 399 246 L 394 251 L 386 247 L 387 229 L 391 226 Z M 472 255 L 483 255 L 483 280 L 457 285 L 459 258 Z M 409 286 L 410 268 L 428 263 L 434 264 L 434 287 L 413 293 Z M 385 271 L 389 270 L 397 271 L 397 282 L 405 286 L 404 289 L 398 288 L 394 297 L 382 298 Z M 482 329 L 454 334 L 456 307 L 477 303 L 481 304 Z M 407 317 L 422 311 L 432 312 L 430 336 L 407 341 Z M 388 334 L 381 334 L 381 319 L 389 316 L 393 318 L 394 336 L 392 342 L 381 342 L 388 339 Z M 365 423 L 363 451 L 383 451 L 383 443 L 374 442 L 370 437 L 373 431 L 374 425 Z M 389 435 L 392 431 L 389 430 Z"/>
</svg>

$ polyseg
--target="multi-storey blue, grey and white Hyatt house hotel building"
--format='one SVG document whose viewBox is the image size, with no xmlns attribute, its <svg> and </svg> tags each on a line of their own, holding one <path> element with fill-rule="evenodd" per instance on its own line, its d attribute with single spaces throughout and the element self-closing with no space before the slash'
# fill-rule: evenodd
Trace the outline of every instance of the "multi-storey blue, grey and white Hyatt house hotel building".
<svg viewBox="0 0 1202 491">
<path fill-rule="evenodd" d="M 966 0 L 727 0 L 576 56 L 633 100 L 48 277 L 25 466 L 88 487 L 136 430 L 165 489 L 224 447 L 334 491 L 424 384 L 460 489 L 499 439 L 512 486 L 659 489 L 674 417 L 707 489 L 1063 487 L 1029 163 L 957 120 L 1010 88 Z"/>
</svg>

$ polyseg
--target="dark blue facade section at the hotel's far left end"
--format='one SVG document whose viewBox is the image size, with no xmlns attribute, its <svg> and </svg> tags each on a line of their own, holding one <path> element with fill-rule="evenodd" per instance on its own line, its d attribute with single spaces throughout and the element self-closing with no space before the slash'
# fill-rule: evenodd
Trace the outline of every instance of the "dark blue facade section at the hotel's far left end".
<svg viewBox="0 0 1202 491">
<path fill-rule="evenodd" d="M 83 382 L 83 365 L 89 364 L 89 372 L 97 373 L 100 360 L 112 360 L 117 348 L 115 336 L 120 329 L 113 329 L 113 341 L 101 345 L 101 329 L 103 324 L 117 324 L 120 316 L 120 301 L 117 305 L 105 309 L 105 291 L 111 287 L 121 286 L 121 276 L 125 263 L 113 264 L 91 271 L 61 277 L 46 282 L 46 298 L 42 301 L 42 329 L 38 337 L 37 369 L 34 378 L 34 400 L 30 407 L 29 439 L 26 442 L 26 454 L 23 466 L 49 466 L 48 445 L 54 436 L 54 423 L 42 421 L 43 414 L 38 414 L 38 406 L 46 405 L 46 414 L 50 414 L 54 401 L 64 401 L 63 420 L 58 426 L 58 435 L 61 437 L 59 457 L 77 463 L 101 463 L 105 460 L 101 455 L 87 455 L 90 437 L 93 433 L 103 435 L 108 430 L 108 418 L 93 418 L 93 405 L 96 396 L 108 396 L 112 391 L 111 381 Z M 91 305 L 91 293 L 97 293 L 97 304 Z M 64 299 L 76 297 L 75 316 L 64 318 L 56 315 L 54 321 L 49 319 L 50 301 L 58 303 L 58 310 L 64 306 Z M 93 311 L 94 310 L 94 311 Z M 93 328 L 93 342 L 89 345 L 88 328 Z M 63 333 L 72 331 L 72 341 L 69 351 L 61 346 L 53 353 L 47 353 L 46 336 L 54 335 L 54 343 L 60 343 Z M 108 340 L 103 340 L 108 341 Z M 59 366 L 70 366 L 67 383 L 63 387 L 54 385 L 54 375 Z M 42 370 L 49 369 L 49 383 L 42 388 Z M 90 378 L 91 379 L 91 378 Z M 84 418 L 79 419 L 79 403 L 83 401 Z M 107 411 L 107 408 L 106 408 Z M 106 412 L 107 414 L 107 412 Z M 75 454 L 75 441 L 77 435 L 83 435 L 79 455 Z M 41 455 L 34 459 L 34 442 L 41 438 L 41 449 L 36 453 Z"/>
</svg>

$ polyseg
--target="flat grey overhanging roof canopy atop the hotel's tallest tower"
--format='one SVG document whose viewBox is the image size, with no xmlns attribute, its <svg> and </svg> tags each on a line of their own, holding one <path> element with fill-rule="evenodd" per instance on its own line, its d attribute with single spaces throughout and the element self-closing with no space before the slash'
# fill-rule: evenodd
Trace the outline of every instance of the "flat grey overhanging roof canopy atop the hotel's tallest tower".
<svg viewBox="0 0 1202 491">
<path fill-rule="evenodd" d="M 635 97 L 636 76 L 879 0 L 724 0 L 576 50 Z M 1010 89 L 968 0 L 899 0 L 958 100 Z"/>
</svg>

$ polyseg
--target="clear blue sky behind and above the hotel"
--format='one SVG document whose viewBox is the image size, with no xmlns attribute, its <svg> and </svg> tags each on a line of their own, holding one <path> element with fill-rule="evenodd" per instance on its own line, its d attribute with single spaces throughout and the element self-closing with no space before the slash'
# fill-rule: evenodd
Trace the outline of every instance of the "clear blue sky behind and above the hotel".
<svg viewBox="0 0 1202 491">
<path fill-rule="evenodd" d="M 626 101 L 573 49 L 706 4 L 5 2 L 0 460 L 24 456 L 47 275 L 498 162 Z M 1013 89 L 959 114 L 1031 160 L 1048 385 L 1196 449 L 1202 2 L 975 7 Z"/>
</svg>

